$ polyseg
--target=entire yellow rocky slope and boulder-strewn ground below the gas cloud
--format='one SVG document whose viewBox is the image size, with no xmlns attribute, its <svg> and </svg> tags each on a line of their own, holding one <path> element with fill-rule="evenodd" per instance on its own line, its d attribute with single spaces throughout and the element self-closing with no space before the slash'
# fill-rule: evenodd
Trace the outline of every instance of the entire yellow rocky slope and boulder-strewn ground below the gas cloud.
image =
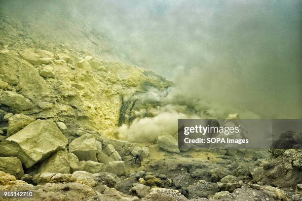
<svg viewBox="0 0 302 201">
<path fill-rule="evenodd" d="M 299 149 L 269 156 L 179 150 L 164 133 L 154 143 L 117 139 L 118 126 L 161 104 L 141 95 L 173 83 L 89 51 L 107 46 L 87 29 L 64 44 L 41 33 L 0 15 L 0 191 L 31 190 L 37 201 L 302 199 Z"/>
</svg>

